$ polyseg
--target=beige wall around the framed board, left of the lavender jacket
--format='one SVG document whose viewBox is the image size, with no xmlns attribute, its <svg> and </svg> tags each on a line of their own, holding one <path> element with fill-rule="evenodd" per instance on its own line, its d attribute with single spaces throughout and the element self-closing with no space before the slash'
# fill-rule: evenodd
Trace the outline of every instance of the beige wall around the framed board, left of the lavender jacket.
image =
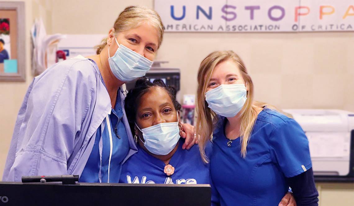
<svg viewBox="0 0 354 206">
<path fill-rule="evenodd" d="M 16 0 L 6 0 L 16 1 Z M 51 0 L 25 0 L 25 50 L 26 53 L 26 81 L 25 82 L 0 82 L 0 179 L 4 171 L 8 147 L 10 146 L 13 128 L 18 110 L 33 80 L 31 72 L 30 29 L 35 18 L 42 17 L 46 28 L 51 28 L 51 22 L 46 21 Z"/>
</svg>

